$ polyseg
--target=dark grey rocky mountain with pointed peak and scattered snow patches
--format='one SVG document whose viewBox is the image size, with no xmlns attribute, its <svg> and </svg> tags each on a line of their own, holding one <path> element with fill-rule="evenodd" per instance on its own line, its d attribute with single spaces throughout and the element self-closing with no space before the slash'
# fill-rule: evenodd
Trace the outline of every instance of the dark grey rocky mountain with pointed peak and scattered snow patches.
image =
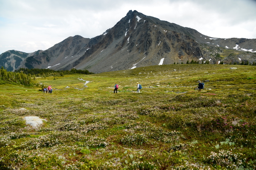
<svg viewBox="0 0 256 170">
<path fill-rule="evenodd" d="M 192 60 L 253 63 L 256 39 L 208 37 L 195 29 L 130 10 L 102 35 L 92 39 L 68 37 L 45 51 L 29 54 L 18 68 L 76 68 L 101 73 Z"/>
</svg>

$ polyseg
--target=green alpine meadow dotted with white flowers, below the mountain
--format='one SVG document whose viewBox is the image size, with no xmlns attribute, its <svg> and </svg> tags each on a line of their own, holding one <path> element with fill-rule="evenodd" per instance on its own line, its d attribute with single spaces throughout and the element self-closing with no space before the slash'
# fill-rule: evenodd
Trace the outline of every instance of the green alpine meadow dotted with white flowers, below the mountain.
<svg viewBox="0 0 256 170">
<path fill-rule="evenodd" d="M 36 80 L 53 93 L 0 85 L 1 170 L 256 168 L 255 66 L 173 64 Z M 194 90 L 198 80 L 209 80 L 204 91 Z M 33 129 L 25 116 L 47 122 Z"/>
</svg>

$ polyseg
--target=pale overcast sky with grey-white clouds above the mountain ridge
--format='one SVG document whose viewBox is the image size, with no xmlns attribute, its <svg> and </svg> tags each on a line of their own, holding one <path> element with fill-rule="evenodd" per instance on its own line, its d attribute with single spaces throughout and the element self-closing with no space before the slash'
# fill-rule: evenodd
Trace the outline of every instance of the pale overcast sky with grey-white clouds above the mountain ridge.
<svg viewBox="0 0 256 170">
<path fill-rule="evenodd" d="M 0 0 L 0 54 L 98 36 L 129 10 L 214 38 L 256 38 L 256 0 Z"/>
</svg>

